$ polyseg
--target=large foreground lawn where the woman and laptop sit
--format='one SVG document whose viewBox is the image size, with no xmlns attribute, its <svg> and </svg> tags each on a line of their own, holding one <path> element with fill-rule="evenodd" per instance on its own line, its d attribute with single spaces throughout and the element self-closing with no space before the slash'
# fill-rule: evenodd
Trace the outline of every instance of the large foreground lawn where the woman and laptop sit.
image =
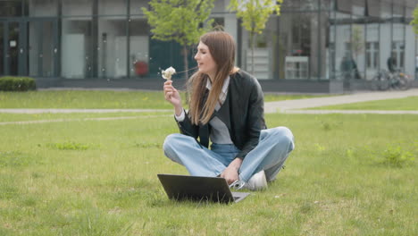
<svg viewBox="0 0 418 236">
<path fill-rule="evenodd" d="M 266 121 L 296 149 L 268 190 L 231 205 L 166 198 L 156 174 L 187 173 L 163 156 L 172 117 L 0 126 L 0 235 L 417 235 L 416 115 Z"/>
</svg>

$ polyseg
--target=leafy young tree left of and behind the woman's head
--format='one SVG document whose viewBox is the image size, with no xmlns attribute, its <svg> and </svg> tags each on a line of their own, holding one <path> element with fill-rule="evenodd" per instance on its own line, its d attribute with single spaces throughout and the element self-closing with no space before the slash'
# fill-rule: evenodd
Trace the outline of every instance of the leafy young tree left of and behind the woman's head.
<svg viewBox="0 0 418 236">
<path fill-rule="evenodd" d="M 150 10 L 142 7 L 152 38 L 171 41 L 182 46 L 185 77 L 188 79 L 188 51 L 199 37 L 208 31 L 213 20 L 208 21 L 214 0 L 151 0 Z"/>
</svg>

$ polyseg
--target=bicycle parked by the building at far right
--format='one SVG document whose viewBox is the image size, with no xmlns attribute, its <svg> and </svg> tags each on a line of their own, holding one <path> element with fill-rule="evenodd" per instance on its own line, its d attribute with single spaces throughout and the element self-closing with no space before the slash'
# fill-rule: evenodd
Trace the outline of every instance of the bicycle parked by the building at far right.
<svg viewBox="0 0 418 236">
<path fill-rule="evenodd" d="M 411 88 L 409 77 L 404 72 L 388 72 L 386 70 L 380 70 L 380 72 L 373 77 L 371 85 L 372 90 L 406 90 Z"/>
</svg>

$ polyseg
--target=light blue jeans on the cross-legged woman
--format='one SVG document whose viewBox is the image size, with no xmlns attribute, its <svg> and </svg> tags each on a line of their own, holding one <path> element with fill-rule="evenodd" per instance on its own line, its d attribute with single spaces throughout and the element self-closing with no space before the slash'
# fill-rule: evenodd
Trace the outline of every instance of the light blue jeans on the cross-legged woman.
<svg viewBox="0 0 418 236">
<path fill-rule="evenodd" d="M 273 181 L 295 148 L 293 134 L 286 127 L 261 131 L 258 145 L 251 150 L 239 168 L 239 180 L 247 182 L 253 174 L 264 170 L 267 181 Z M 239 149 L 233 144 L 200 146 L 196 139 L 174 133 L 164 141 L 165 156 L 184 165 L 190 175 L 218 176 L 234 160 Z"/>
</svg>

